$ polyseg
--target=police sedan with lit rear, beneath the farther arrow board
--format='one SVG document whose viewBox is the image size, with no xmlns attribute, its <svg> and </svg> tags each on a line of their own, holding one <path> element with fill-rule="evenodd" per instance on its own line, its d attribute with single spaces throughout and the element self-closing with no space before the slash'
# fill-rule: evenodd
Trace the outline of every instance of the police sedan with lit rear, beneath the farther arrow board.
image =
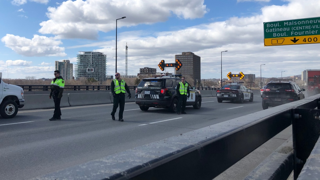
<svg viewBox="0 0 320 180">
<path fill-rule="evenodd" d="M 222 101 L 237 101 L 243 103 L 245 100 L 253 101 L 253 92 L 244 85 L 232 82 L 217 90 L 218 103 Z"/>
</svg>

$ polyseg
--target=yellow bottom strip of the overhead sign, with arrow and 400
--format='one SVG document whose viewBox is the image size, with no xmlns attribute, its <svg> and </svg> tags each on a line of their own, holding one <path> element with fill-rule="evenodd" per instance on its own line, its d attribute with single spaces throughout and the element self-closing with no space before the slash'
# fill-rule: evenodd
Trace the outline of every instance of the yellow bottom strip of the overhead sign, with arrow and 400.
<svg viewBox="0 0 320 180">
<path fill-rule="evenodd" d="M 264 39 L 264 46 L 314 44 L 314 43 L 320 43 L 320 35 L 306 35 L 306 36 L 296 36 L 296 37 Z"/>
</svg>

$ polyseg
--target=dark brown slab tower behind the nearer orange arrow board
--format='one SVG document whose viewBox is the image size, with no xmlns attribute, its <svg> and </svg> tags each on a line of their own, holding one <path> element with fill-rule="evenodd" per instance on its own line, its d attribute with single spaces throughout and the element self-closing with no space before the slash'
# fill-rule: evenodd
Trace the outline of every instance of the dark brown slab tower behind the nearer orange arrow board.
<svg viewBox="0 0 320 180">
<path fill-rule="evenodd" d="M 200 56 L 197 56 L 195 55 L 195 53 L 192 52 L 182 52 L 181 55 L 175 55 L 175 59 L 180 60 L 180 62 L 182 63 L 182 67 L 178 71 L 174 70 L 174 74 L 181 74 L 182 76 L 191 77 L 194 80 L 193 85 L 196 86 L 196 82 L 201 81 Z"/>
</svg>

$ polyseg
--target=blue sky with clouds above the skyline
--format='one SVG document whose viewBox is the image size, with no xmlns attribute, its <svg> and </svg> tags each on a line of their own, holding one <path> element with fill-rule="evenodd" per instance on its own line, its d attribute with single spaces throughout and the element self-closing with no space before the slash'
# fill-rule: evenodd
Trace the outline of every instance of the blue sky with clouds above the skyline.
<svg viewBox="0 0 320 180">
<path fill-rule="evenodd" d="M 228 72 L 281 77 L 320 69 L 320 44 L 264 46 L 263 22 L 320 17 L 320 0 L 0 0 L 3 78 L 53 78 L 79 51 L 107 55 L 107 74 L 128 75 L 191 51 L 201 78 Z M 320 25 L 320 24 L 319 24 Z M 319 41 L 320 42 L 320 41 Z M 266 64 L 260 66 L 261 64 Z M 168 68 L 166 71 L 173 72 Z M 74 74 L 75 75 L 75 74 Z"/>
</svg>

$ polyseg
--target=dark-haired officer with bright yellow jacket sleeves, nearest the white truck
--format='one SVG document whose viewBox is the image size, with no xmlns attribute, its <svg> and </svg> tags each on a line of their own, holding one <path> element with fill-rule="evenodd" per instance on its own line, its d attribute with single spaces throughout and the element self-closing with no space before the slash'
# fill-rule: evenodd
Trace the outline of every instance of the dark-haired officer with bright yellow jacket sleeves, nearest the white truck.
<svg viewBox="0 0 320 180">
<path fill-rule="evenodd" d="M 54 112 L 53 117 L 49 119 L 49 121 L 55 121 L 61 119 L 61 109 L 60 109 L 60 101 L 62 98 L 63 88 L 64 88 L 64 80 L 62 76 L 60 76 L 60 71 L 54 71 L 54 79 L 51 82 L 51 92 L 49 98 L 53 98 L 54 102 Z"/>
</svg>

